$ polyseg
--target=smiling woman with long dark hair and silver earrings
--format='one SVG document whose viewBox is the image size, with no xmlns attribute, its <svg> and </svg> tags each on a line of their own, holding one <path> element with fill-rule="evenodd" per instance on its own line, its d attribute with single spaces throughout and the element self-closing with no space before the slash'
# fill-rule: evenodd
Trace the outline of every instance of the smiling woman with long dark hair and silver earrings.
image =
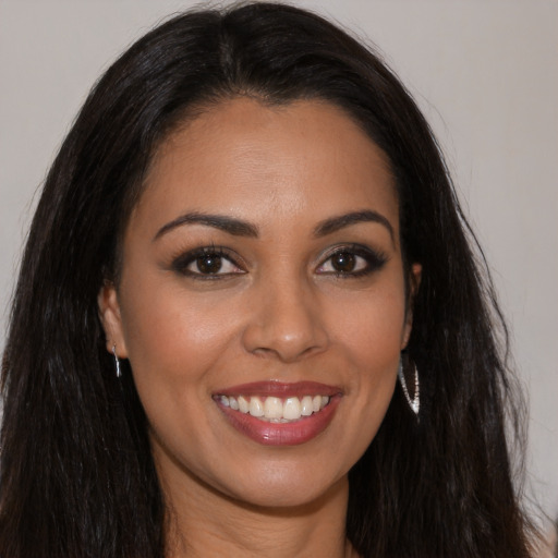
<svg viewBox="0 0 558 558">
<path fill-rule="evenodd" d="M 416 106 L 331 24 L 147 34 L 32 226 L 0 555 L 529 556 L 471 238 Z"/>
</svg>

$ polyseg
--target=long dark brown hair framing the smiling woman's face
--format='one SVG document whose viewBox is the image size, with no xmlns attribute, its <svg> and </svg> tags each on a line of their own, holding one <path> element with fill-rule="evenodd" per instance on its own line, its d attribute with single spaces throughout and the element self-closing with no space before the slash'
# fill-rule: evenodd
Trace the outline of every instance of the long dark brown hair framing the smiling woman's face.
<svg viewBox="0 0 558 558">
<path fill-rule="evenodd" d="M 421 377 L 420 423 L 398 388 L 350 472 L 355 549 L 366 558 L 529 556 L 507 441 L 521 407 L 506 328 L 436 141 L 373 50 L 272 3 L 194 11 L 148 33 L 94 87 L 54 160 L 2 364 L 0 556 L 165 555 L 146 417 L 129 367 L 114 375 L 97 294 L 118 280 L 122 232 L 156 147 L 195 107 L 235 96 L 341 107 L 387 155 L 404 262 L 423 266 L 408 348 Z"/>
</svg>

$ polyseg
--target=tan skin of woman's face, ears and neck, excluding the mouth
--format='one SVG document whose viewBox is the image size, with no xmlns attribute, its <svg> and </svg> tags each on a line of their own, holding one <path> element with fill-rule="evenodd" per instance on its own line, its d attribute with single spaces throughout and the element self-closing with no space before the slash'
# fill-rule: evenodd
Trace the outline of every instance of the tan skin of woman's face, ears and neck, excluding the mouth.
<svg viewBox="0 0 558 558">
<path fill-rule="evenodd" d="M 223 101 L 160 146 L 99 306 L 149 420 L 169 557 L 355 556 L 348 472 L 411 331 L 398 211 L 385 156 L 326 102 Z M 302 380 L 340 393 L 304 444 L 259 444 L 216 404 L 230 386 Z"/>
</svg>

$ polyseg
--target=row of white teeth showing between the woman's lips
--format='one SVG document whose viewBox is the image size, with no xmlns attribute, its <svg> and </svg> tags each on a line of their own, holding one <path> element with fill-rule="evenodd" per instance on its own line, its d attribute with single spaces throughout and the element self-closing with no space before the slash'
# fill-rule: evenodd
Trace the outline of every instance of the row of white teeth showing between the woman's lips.
<svg viewBox="0 0 558 558">
<path fill-rule="evenodd" d="M 215 397 L 223 408 L 239 413 L 250 414 L 263 422 L 288 424 L 318 413 L 330 402 L 329 396 L 299 397 L 262 397 L 262 396 L 225 396 Z"/>
</svg>

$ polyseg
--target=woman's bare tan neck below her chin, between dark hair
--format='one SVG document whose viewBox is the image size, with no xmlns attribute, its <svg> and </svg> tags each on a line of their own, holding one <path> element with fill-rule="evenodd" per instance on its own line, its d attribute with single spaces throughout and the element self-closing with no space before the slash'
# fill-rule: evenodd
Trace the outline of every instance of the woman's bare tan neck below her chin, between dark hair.
<svg viewBox="0 0 558 558">
<path fill-rule="evenodd" d="M 356 558 L 345 539 L 347 477 L 312 502 L 284 508 L 251 506 L 189 481 L 163 486 L 167 558 Z"/>
</svg>

